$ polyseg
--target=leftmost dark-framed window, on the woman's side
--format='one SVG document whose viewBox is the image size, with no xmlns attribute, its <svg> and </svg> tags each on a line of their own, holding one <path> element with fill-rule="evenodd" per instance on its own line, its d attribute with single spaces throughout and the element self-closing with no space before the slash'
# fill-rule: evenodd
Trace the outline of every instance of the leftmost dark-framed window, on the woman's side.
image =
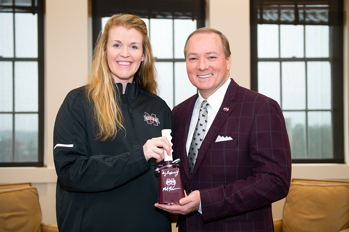
<svg viewBox="0 0 349 232">
<path fill-rule="evenodd" d="M 0 1 L 0 167 L 44 164 L 43 4 Z"/>
</svg>

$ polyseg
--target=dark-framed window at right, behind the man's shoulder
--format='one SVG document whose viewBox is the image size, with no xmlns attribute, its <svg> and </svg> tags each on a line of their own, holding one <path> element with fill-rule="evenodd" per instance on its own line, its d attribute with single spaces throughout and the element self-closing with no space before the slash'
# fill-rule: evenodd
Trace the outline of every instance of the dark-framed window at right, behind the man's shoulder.
<svg viewBox="0 0 349 232">
<path fill-rule="evenodd" d="M 251 0 L 251 88 L 281 106 L 293 163 L 343 163 L 343 1 Z"/>
</svg>

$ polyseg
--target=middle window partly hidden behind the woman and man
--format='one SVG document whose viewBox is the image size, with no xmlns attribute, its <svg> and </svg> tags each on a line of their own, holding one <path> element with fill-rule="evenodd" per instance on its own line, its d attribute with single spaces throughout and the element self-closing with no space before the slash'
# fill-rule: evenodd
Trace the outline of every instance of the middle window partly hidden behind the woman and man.
<svg viewBox="0 0 349 232">
<path fill-rule="evenodd" d="M 138 15 L 147 24 L 148 36 L 156 58 L 158 94 L 170 108 L 197 92 L 187 75 L 184 45 L 187 37 L 205 26 L 205 1 L 133 0 L 92 1 L 93 38 L 97 40 L 106 20 L 116 13 Z"/>
</svg>

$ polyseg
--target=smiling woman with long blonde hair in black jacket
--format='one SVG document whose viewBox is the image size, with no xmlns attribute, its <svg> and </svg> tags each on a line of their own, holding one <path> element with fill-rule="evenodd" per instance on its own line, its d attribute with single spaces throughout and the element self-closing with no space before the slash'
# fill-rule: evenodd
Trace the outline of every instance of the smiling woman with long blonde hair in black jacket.
<svg viewBox="0 0 349 232">
<path fill-rule="evenodd" d="M 117 14 L 99 35 L 85 86 L 60 107 L 53 134 L 56 212 L 64 231 L 171 231 L 158 210 L 154 167 L 170 154 L 161 137 L 172 113 L 156 96 L 146 24 Z"/>
</svg>

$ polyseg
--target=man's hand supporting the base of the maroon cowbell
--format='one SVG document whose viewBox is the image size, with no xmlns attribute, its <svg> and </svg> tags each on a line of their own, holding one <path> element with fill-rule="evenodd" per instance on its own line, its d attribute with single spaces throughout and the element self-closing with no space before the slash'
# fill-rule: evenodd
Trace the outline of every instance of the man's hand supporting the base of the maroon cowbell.
<svg viewBox="0 0 349 232">
<path fill-rule="evenodd" d="M 195 210 L 199 210 L 200 206 L 200 192 L 195 190 L 191 192 L 188 196 L 179 200 L 179 204 L 159 204 L 155 203 L 155 207 L 163 209 L 172 214 L 189 214 Z"/>
</svg>

